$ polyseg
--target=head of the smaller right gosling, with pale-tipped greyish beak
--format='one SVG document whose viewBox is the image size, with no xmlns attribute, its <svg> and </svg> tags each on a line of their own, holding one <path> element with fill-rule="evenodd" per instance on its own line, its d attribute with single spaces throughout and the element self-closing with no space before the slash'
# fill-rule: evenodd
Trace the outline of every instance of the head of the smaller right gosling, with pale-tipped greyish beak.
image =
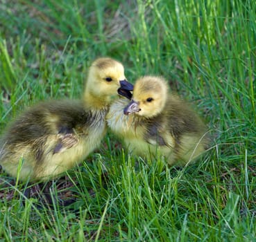
<svg viewBox="0 0 256 242">
<path fill-rule="evenodd" d="M 168 85 L 161 77 L 145 76 L 135 82 L 133 100 L 123 113 L 151 118 L 159 114 L 167 102 Z"/>
</svg>

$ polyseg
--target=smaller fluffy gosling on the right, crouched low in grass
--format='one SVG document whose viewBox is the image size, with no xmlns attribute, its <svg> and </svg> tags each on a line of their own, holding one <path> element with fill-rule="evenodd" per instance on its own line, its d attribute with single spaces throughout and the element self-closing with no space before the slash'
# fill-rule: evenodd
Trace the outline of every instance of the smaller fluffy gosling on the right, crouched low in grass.
<svg viewBox="0 0 256 242">
<path fill-rule="evenodd" d="M 133 100 L 114 102 L 107 122 L 131 153 L 145 158 L 162 156 L 169 165 L 194 162 L 210 142 L 203 121 L 187 102 L 169 93 L 162 77 L 139 78 Z"/>
</svg>

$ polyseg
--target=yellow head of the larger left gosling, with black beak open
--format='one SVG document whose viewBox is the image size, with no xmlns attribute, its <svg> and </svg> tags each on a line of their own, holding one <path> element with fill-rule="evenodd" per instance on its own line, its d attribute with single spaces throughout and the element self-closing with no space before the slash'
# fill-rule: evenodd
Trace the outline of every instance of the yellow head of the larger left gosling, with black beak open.
<svg viewBox="0 0 256 242">
<path fill-rule="evenodd" d="M 109 57 L 96 59 L 89 67 L 85 87 L 85 99 L 110 104 L 117 92 L 130 99 L 133 84 L 127 82 L 124 68 L 120 62 Z"/>
</svg>

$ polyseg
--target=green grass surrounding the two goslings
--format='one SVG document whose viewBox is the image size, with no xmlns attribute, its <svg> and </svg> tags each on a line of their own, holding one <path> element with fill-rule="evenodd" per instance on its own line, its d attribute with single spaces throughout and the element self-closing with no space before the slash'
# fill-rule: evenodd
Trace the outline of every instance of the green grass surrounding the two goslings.
<svg viewBox="0 0 256 242">
<path fill-rule="evenodd" d="M 3 1 L 0 128 L 39 100 L 76 98 L 93 59 L 163 75 L 214 136 L 195 165 L 129 156 L 111 133 L 69 172 L 62 208 L 0 174 L 0 241 L 255 241 L 255 1 Z M 58 181 L 53 195 L 62 192 Z M 60 191 L 61 190 L 61 191 Z"/>
</svg>

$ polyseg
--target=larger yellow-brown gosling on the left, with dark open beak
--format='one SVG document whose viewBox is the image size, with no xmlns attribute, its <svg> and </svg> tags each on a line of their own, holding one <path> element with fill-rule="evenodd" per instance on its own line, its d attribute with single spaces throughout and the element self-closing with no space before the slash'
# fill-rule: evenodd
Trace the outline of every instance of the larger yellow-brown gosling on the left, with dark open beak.
<svg viewBox="0 0 256 242">
<path fill-rule="evenodd" d="M 96 59 L 81 100 L 41 102 L 10 124 L 0 140 L 0 165 L 23 181 L 42 182 L 71 169 L 99 147 L 109 106 L 127 90 L 133 85 L 123 65 L 108 57 Z"/>
</svg>

